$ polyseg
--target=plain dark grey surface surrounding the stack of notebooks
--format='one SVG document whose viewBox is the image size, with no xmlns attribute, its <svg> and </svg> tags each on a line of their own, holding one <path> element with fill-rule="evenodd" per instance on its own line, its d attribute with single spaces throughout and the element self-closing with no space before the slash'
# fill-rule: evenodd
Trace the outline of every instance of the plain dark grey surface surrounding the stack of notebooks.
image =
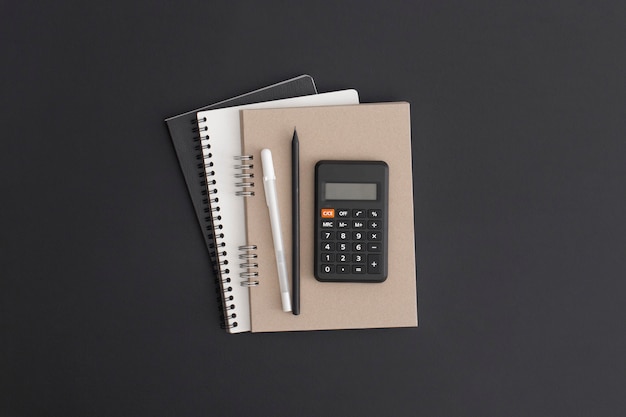
<svg viewBox="0 0 626 417">
<path fill-rule="evenodd" d="M 0 2 L 0 415 L 626 414 L 624 2 L 89 3 Z M 219 328 L 163 119 L 302 73 L 411 103 L 418 329 Z"/>
</svg>

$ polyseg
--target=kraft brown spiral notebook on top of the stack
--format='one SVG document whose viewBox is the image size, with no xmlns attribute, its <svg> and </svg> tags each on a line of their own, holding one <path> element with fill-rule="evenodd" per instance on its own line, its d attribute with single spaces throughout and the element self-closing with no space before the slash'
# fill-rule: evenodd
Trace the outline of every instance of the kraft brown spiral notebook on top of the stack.
<svg viewBox="0 0 626 417">
<path fill-rule="evenodd" d="M 247 243 L 256 249 L 250 290 L 253 332 L 417 326 L 413 181 L 408 103 L 243 110 L 242 149 L 253 158 L 245 199 Z M 261 150 L 272 151 L 283 242 L 291 271 L 291 140 L 300 143 L 300 315 L 281 308 Z M 382 283 L 320 282 L 314 276 L 315 164 L 377 160 L 389 167 L 388 275 Z M 256 275 L 256 274 L 255 274 Z"/>
</svg>

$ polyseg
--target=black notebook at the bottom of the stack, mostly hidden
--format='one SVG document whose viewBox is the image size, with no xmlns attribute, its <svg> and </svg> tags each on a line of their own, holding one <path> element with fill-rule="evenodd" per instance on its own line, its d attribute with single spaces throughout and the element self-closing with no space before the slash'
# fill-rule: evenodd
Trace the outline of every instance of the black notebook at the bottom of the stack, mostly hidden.
<svg viewBox="0 0 626 417">
<path fill-rule="evenodd" d="M 204 164 L 202 160 L 202 150 L 200 149 L 196 113 L 203 110 L 280 100 L 316 93 L 317 90 L 313 78 L 309 75 L 301 75 L 278 84 L 273 84 L 228 100 L 220 101 L 219 103 L 165 119 L 165 123 L 167 123 L 167 127 L 170 131 L 172 143 L 176 149 L 178 163 L 183 171 L 187 189 L 189 190 L 189 196 L 193 202 L 193 207 L 196 211 L 200 227 L 202 228 L 202 235 L 204 236 L 209 253 L 213 251 L 211 208 L 207 198 Z"/>
</svg>

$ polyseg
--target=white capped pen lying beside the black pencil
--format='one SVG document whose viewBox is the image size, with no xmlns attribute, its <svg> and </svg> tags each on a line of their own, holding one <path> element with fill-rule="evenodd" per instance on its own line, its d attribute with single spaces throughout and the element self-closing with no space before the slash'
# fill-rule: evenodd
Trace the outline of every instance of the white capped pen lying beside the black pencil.
<svg viewBox="0 0 626 417">
<path fill-rule="evenodd" d="M 274 239 L 274 252 L 276 254 L 276 266 L 278 268 L 278 284 L 280 285 L 280 298 L 283 311 L 291 311 L 291 297 L 289 296 L 289 277 L 287 276 L 287 262 L 285 262 L 285 250 L 283 237 L 280 231 L 280 214 L 278 212 L 278 197 L 276 194 L 276 174 L 272 162 L 272 151 L 261 151 L 261 164 L 263 165 L 263 188 L 265 189 L 265 202 L 270 212 L 270 225 L 272 238 Z"/>
</svg>

